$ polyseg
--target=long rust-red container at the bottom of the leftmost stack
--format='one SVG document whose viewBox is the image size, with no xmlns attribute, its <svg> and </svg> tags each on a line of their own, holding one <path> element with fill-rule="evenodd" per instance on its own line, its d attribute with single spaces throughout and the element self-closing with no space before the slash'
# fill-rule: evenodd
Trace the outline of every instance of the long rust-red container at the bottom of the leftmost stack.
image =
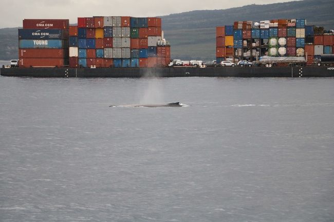
<svg viewBox="0 0 334 222">
<path fill-rule="evenodd" d="M 64 58 L 20 58 L 18 59 L 18 66 L 30 67 L 62 67 L 64 66 Z"/>
</svg>

